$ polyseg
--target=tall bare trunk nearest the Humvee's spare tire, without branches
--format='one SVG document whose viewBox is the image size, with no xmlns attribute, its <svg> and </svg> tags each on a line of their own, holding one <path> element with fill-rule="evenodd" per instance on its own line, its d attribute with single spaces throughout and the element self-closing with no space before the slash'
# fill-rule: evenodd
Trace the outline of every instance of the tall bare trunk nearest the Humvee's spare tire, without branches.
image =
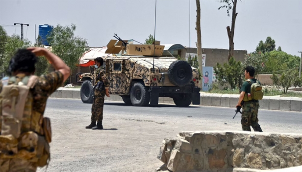
<svg viewBox="0 0 302 172">
<path fill-rule="evenodd" d="M 199 0 L 196 0 L 196 31 L 197 31 L 197 59 L 199 62 L 199 71 L 202 72 L 202 52 L 201 52 L 201 4 Z M 202 88 L 202 73 L 199 74 L 199 87 Z"/>
</svg>

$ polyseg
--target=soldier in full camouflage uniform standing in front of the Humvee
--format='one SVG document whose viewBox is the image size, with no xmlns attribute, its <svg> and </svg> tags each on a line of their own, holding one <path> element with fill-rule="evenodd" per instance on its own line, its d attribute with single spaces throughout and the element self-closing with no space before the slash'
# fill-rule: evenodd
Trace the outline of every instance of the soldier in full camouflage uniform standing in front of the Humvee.
<svg viewBox="0 0 302 172">
<path fill-rule="evenodd" d="M 92 108 L 91 108 L 91 124 L 89 126 L 86 126 L 86 129 L 103 129 L 102 126 L 102 120 L 103 120 L 103 107 L 104 107 L 104 98 L 105 95 L 107 97 L 110 97 L 109 95 L 109 83 L 106 78 L 106 73 L 104 70 L 103 65 L 103 59 L 101 57 L 96 58 L 95 60 L 95 67 L 97 68 L 97 71 L 95 73 L 95 90 L 94 90 L 94 100 L 92 103 Z M 98 82 L 103 83 L 103 88 L 102 90 L 97 89 L 96 86 Z M 98 124 L 96 122 L 98 121 Z"/>
</svg>

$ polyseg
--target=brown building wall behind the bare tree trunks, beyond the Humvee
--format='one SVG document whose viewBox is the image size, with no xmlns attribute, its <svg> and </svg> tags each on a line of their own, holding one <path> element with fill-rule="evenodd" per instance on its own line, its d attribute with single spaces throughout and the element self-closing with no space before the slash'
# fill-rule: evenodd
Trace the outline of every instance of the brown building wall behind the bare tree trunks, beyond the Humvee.
<svg viewBox="0 0 302 172">
<path fill-rule="evenodd" d="M 186 53 L 189 53 L 191 49 L 191 53 L 197 54 L 197 48 L 186 48 L 182 49 L 180 52 L 180 57 L 182 59 L 185 58 Z M 224 64 L 227 62 L 228 49 L 217 49 L 217 48 L 202 48 L 202 54 L 205 54 L 205 66 L 215 66 L 217 63 Z M 236 61 L 244 62 L 244 58 L 246 57 L 248 51 L 247 50 L 234 50 L 234 58 Z"/>
</svg>

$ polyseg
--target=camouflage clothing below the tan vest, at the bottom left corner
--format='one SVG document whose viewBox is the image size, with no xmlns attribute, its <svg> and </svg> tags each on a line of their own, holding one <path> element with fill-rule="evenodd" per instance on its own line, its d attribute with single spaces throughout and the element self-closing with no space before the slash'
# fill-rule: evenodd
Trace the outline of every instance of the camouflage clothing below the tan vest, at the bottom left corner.
<svg viewBox="0 0 302 172">
<path fill-rule="evenodd" d="M 24 159 L 0 159 L 0 172 L 36 172 L 35 163 Z"/>
</svg>

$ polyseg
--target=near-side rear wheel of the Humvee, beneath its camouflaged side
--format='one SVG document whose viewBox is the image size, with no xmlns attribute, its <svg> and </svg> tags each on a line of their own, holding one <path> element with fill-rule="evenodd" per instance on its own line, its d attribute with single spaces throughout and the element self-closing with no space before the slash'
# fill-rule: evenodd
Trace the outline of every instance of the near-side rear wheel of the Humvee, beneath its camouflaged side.
<svg viewBox="0 0 302 172">
<path fill-rule="evenodd" d="M 130 100 L 132 105 L 136 107 L 149 105 L 150 93 L 148 87 L 142 83 L 135 83 L 131 88 Z"/>
</svg>

